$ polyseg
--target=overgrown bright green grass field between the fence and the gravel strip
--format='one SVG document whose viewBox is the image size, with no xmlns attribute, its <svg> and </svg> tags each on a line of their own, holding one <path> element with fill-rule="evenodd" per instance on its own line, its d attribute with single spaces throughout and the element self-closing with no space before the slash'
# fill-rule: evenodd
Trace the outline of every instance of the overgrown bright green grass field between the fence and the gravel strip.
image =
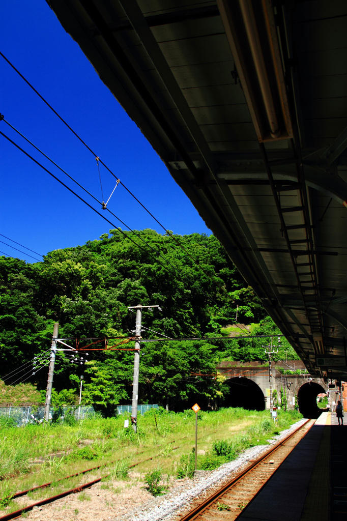
<svg viewBox="0 0 347 521">
<path fill-rule="evenodd" d="M 153 414 L 139 416 L 138 433 L 123 427 L 126 415 L 86 418 L 71 425 L 14 427 L 0 422 L 0 498 L 50 481 L 54 487 L 35 493 L 35 497 L 52 495 L 52 488 L 56 492 L 77 487 L 82 476 L 57 480 L 98 465 L 102 467 L 95 473 L 100 477 L 109 474 L 113 480 L 127 479 L 129 466 L 137 463 L 134 470 L 142 474 L 151 474 L 159 467 L 163 476 L 192 476 L 195 413 L 160 411 L 156 415 L 158 428 Z M 287 429 L 300 418 L 295 411 L 279 411 L 275 425 L 268 411 L 200 411 L 198 468 L 211 470 L 231 461 L 242 450 L 267 443 L 276 431 Z M 163 482 L 159 485 L 164 486 Z M 11 502 L 9 507 L 12 508 Z"/>
</svg>

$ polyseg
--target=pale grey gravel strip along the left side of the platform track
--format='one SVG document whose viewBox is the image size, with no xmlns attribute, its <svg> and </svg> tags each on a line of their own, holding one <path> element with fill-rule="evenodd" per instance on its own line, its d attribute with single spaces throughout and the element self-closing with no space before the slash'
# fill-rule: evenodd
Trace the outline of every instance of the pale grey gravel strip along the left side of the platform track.
<svg viewBox="0 0 347 521">
<path fill-rule="evenodd" d="M 284 430 L 280 435 L 268 440 L 270 444 L 277 443 L 285 438 L 292 430 L 300 427 L 305 423 L 302 419 L 292 425 L 289 429 Z M 110 521 L 171 521 L 178 514 L 187 510 L 190 503 L 198 496 L 203 499 L 212 493 L 212 489 L 221 486 L 224 481 L 228 481 L 234 474 L 250 464 L 251 460 L 255 460 L 261 456 L 269 445 L 257 445 L 251 449 L 245 450 L 237 460 L 225 463 L 215 470 L 199 470 L 195 473 L 193 479 L 176 480 L 175 488 L 170 490 L 165 496 L 151 498 L 141 507 L 133 510 L 125 516 L 109 517 Z"/>
</svg>

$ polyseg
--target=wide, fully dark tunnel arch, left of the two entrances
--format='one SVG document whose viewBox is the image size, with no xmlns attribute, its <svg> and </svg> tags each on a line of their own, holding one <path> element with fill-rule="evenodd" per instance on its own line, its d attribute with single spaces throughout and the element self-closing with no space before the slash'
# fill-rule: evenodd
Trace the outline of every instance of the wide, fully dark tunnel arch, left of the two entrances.
<svg viewBox="0 0 347 521">
<path fill-rule="evenodd" d="M 225 407 L 243 407 L 249 411 L 264 411 L 265 400 L 261 388 L 249 378 L 230 378 L 224 382 L 230 391 L 225 395 Z"/>
</svg>

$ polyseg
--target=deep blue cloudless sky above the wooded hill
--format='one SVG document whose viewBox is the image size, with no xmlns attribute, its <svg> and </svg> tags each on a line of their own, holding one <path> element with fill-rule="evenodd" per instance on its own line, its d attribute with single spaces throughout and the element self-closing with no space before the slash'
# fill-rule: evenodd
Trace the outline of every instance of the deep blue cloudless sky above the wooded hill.
<svg viewBox="0 0 347 521">
<path fill-rule="evenodd" d="M 174 233 L 210 233 L 165 165 L 98 78 L 79 46 L 44 0 L 0 5 L 0 51 L 152 214 Z M 94 156 L 0 56 L 0 113 L 97 199 L 101 188 Z M 102 212 L 97 203 L 36 152 L 4 121 L 0 130 Z M 31 250 L 84 244 L 112 228 L 0 135 L 0 233 Z M 100 166 L 105 201 L 116 180 Z M 133 229 L 163 230 L 119 185 L 108 208 Z M 108 212 L 104 215 L 119 224 Z M 0 236 L 18 249 L 21 246 Z M 22 249 L 23 250 L 23 249 Z M 34 262 L 0 242 L 0 251 Z M 25 250 L 23 250 L 25 251 Z M 31 255 L 31 252 L 28 252 Z M 0 254 L 1 255 L 1 254 Z"/>
</svg>

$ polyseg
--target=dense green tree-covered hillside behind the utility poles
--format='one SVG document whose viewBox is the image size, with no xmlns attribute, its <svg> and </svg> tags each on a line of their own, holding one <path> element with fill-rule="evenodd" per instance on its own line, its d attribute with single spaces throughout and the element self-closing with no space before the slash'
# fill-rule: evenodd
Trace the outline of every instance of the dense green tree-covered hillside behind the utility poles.
<svg viewBox="0 0 347 521">
<path fill-rule="evenodd" d="M 247 330 L 232 326 L 246 324 L 252 335 L 279 333 L 213 235 L 160 235 L 150 229 L 126 234 L 114 229 L 100 240 L 50 252 L 41 263 L 0 257 L 0 284 L 0 377 L 7 385 L 25 381 L 45 389 L 47 367 L 40 367 L 54 322 L 59 322 L 60 338 L 132 337 L 135 314 L 128 306 L 152 304 L 160 311 L 144 311 L 144 339 L 226 340 L 143 343 L 140 402 L 177 409 L 199 396 L 200 402 L 204 397 L 206 403 L 222 403 L 223 381 L 216 378 L 216 364 L 266 359 L 262 346 L 268 339 L 244 338 Z M 58 352 L 53 403 L 75 403 L 82 374 L 83 403 L 104 411 L 129 403 L 133 351 L 80 356 L 88 362 L 76 364 Z M 278 357 L 285 356 L 297 358 L 283 339 Z M 28 365 L 19 374 L 16 369 L 22 364 Z"/>
</svg>

